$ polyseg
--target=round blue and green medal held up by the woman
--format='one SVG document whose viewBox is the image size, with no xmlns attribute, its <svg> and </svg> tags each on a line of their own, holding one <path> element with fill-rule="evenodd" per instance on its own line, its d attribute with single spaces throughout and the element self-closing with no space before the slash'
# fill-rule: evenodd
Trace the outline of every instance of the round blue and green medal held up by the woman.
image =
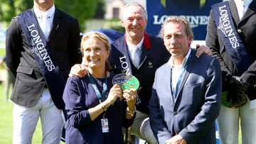
<svg viewBox="0 0 256 144">
<path fill-rule="evenodd" d="M 139 80 L 131 74 L 117 74 L 112 83 L 119 85 L 122 91 L 139 88 Z"/>
</svg>

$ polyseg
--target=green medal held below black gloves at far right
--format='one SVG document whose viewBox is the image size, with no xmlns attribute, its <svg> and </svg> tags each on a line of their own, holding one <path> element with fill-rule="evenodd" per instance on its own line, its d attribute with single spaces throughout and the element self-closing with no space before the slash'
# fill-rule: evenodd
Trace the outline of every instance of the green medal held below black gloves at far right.
<svg viewBox="0 0 256 144">
<path fill-rule="evenodd" d="M 235 103 L 232 104 L 232 99 L 230 99 L 230 101 L 227 101 L 227 97 L 228 97 L 228 91 L 223 92 L 222 93 L 222 97 L 221 97 L 221 104 L 225 107 L 231 108 L 231 109 L 235 109 L 235 108 L 240 108 L 242 106 L 245 106 L 245 104 L 247 104 L 248 99 L 246 94 L 244 94 L 244 96 L 242 97 L 242 101 L 240 101 L 240 103 Z"/>
</svg>

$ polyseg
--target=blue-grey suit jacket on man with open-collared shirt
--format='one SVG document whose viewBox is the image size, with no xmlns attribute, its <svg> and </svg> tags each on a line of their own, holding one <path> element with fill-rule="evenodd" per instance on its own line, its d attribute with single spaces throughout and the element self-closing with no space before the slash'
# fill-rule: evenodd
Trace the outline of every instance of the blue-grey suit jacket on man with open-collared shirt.
<svg viewBox="0 0 256 144">
<path fill-rule="evenodd" d="M 192 50 L 181 79 L 176 101 L 171 90 L 171 66 L 156 70 L 149 102 L 151 129 L 165 143 L 181 135 L 188 143 L 215 144 L 215 118 L 221 102 L 221 71 L 218 60 L 208 55 L 196 58 Z"/>
</svg>

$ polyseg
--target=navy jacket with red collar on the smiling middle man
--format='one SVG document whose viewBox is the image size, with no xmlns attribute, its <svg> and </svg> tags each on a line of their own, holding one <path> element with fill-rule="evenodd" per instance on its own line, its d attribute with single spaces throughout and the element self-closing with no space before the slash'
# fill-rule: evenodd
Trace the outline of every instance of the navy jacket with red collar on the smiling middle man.
<svg viewBox="0 0 256 144">
<path fill-rule="evenodd" d="M 129 59 L 129 52 L 125 41 L 125 35 L 114 41 L 111 45 L 110 56 L 108 60 L 112 65 L 115 74 L 128 73 L 139 79 L 142 89 L 137 97 L 137 110 L 143 113 L 149 113 L 149 99 L 151 89 L 154 83 L 154 74 L 156 69 L 168 62 L 170 53 L 166 50 L 161 38 L 144 33 L 144 43 L 142 53 L 139 58 L 139 67 L 136 68 Z"/>
</svg>

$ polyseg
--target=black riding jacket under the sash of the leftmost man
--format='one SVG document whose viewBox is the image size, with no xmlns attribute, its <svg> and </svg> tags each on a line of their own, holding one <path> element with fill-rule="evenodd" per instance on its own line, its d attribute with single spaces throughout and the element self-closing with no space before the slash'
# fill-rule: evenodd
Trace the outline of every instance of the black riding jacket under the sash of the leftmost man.
<svg viewBox="0 0 256 144">
<path fill-rule="evenodd" d="M 32 12 L 36 17 L 33 9 Z M 82 62 L 80 33 L 78 20 L 56 8 L 47 43 L 65 80 L 68 79 L 70 68 Z M 28 47 L 17 17 L 11 20 L 6 33 L 6 65 L 16 77 L 11 100 L 28 107 L 36 104 L 46 87 L 46 80 Z M 62 96 L 52 98 L 58 109 L 65 107 Z"/>
</svg>

